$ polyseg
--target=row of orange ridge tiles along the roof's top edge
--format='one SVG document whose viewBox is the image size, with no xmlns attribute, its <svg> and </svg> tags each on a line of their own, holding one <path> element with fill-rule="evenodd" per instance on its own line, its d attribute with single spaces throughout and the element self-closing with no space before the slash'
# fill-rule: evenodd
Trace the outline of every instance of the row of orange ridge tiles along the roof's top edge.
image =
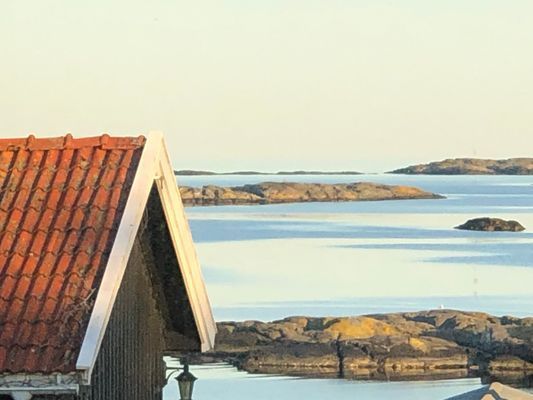
<svg viewBox="0 0 533 400">
<path fill-rule="evenodd" d="M 29 135 L 26 138 L 0 139 L 0 151 L 15 150 L 66 150 L 84 147 L 100 147 L 103 150 L 129 150 L 143 147 L 146 138 L 140 136 L 110 136 L 107 133 L 100 136 L 73 137 L 70 133 L 65 136 L 37 138 Z"/>
</svg>

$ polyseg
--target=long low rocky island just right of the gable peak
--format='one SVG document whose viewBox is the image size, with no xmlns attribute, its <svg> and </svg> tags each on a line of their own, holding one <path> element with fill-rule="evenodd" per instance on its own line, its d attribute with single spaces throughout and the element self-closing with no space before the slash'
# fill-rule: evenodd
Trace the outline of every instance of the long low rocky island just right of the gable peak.
<svg viewBox="0 0 533 400">
<path fill-rule="evenodd" d="M 411 186 L 367 182 L 348 184 L 265 182 L 234 187 L 208 185 L 201 188 L 181 186 L 180 192 L 183 203 L 188 206 L 444 198 Z"/>
</svg>

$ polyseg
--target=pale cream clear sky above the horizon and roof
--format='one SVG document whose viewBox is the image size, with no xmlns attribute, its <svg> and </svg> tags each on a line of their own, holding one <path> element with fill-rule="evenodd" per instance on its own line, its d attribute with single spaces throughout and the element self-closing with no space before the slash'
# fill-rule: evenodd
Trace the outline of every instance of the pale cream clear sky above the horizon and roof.
<svg viewBox="0 0 533 400">
<path fill-rule="evenodd" d="M 177 168 L 533 156 L 529 0 L 0 3 L 0 135 L 167 135 Z"/>
</svg>

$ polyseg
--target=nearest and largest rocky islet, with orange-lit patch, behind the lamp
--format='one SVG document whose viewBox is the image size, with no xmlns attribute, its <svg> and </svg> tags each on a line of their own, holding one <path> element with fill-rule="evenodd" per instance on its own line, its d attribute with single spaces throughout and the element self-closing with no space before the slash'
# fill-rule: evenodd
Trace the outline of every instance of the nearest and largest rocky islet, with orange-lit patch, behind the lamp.
<svg viewBox="0 0 533 400">
<path fill-rule="evenodd" d="M 204 361 L 295 376 L 509 381 L 533 374 L 533 318 L 435 310 L 222 322 Z"/>
</svg>

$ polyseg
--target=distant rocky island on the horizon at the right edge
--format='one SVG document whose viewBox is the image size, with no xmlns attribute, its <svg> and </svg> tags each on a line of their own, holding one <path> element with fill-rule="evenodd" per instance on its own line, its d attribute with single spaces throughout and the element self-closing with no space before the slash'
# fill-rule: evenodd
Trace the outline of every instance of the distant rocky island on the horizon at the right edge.
<svg viewBox="0 0 533 400">
<path fill-rule="evenodd" d="M 429 164 L 411 165 L 391 171 L 409 175 L 533 175 L 533 158 L 487 160 L 453 158 Z"/>
</svg>

